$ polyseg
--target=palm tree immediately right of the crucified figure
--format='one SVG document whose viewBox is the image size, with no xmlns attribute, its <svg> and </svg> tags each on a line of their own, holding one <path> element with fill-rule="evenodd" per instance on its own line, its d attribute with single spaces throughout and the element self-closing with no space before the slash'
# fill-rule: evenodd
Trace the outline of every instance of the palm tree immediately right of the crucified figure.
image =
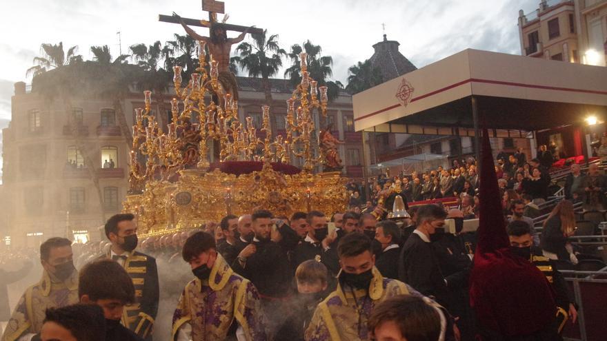
<svg viewBox="0 0 607 341">
<path fill-rule="evenodd" d="M 282 56 L 286 52 L 278 45 L 278 34 L 272 34 L 266 39 L 267 34 L 268 30 L 263 30 L 261 34 L 251 34 L 253 43 L 238 45 L 236 52 L 239 55 L 232 57 L 230 64 L 247 70 L 250 77 L 261 77 L 266 104 L 272 105 L 270 78 L 278 73 L 282 66 Z"/>
</svg>

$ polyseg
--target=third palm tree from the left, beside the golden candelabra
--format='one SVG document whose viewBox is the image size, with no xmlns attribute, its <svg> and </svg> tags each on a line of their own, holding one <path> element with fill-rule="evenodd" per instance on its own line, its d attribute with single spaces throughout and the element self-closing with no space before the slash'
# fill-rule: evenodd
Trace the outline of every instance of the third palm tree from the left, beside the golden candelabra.
<svg viewBox="0 0 607 341">
<path fill-rule="evenodd" d="M 172 71 L 158 67 L 161 57 L 165 56 L 165 64 L 169 55 L 169 49 L 163 49 L 160 41 L 152 45 L 136 44 L 130 47 L 132 56 L 141 67 L 141 72 L 137 76 L 137 87 L 139 90 L 153 90 L 158 96 L 157 99 L 157 120 L 161 127 L 166 128 L 168 124 L 168 115 L 164 105 L 164 94 L 168 89 Z M 168 65 L 163 65 L 165 68 Z"/>
</svg>

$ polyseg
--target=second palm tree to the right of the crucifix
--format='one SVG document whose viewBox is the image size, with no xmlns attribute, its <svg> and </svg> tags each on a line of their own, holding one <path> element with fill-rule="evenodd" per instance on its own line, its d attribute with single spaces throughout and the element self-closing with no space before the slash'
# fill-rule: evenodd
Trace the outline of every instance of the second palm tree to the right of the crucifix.
<svg viewBox="0 0 607 341">
<path fill-rule="evenodd" d="M 330 81 L 333 75 L 331 66 L 333 59 L 331 56 L 321 56 L 322 48 L 320 45 L 314 45 L 309 40 L 304 43 L 304 47 L 295 44 L 291 46 L 291 52 L 287 55 L 291 59 L 292 65 L 285 71 L 284 76 L 290 79 L 291 85 L 297 86 L 301 82 L 301 65 L 299 63 L 299 54 L 306 52 L 308 54 L 308 72 L 310 77 L 318 82 L 318 85 L 326 85 L 328 87 L 329 101 L 339 96 L 339 91 L 344 88 L 344 85 L 339 81 Z"/>
</svg>

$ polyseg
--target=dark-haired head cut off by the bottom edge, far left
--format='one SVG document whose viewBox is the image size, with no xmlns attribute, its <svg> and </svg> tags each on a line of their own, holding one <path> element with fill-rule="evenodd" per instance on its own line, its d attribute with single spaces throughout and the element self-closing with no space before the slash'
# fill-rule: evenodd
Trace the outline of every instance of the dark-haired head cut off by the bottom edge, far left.
<svg viewBox="0 0 607 341">
<path fill-rule="evenodd" d="M 103 318 L 103 310 L 97 304 L 74 304 L 48 309 L 39 340 L 106 340 L 106 320 Z"/>
</svg>

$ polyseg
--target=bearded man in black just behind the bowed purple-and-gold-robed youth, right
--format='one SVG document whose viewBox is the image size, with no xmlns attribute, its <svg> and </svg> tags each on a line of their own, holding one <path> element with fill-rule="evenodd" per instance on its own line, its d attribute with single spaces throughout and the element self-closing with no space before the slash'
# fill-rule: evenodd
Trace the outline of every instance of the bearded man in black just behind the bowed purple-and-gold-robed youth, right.
<svg viewBox="0 0 607 341">
<path fill-rule="evenodd" d="M 259 290 L 261 304 L 268 318 L 268 337 L 288 340 L 289 330 L 282 330 L 285 316 L 282 308 L 291 295 L 293 273 L 285 249 L 270 239 L 272 213 L 259 209 L 252 214 L 252 230 L 255 238 L 238 255 L 233 269 L 248 278 Z"/>
</svg>

